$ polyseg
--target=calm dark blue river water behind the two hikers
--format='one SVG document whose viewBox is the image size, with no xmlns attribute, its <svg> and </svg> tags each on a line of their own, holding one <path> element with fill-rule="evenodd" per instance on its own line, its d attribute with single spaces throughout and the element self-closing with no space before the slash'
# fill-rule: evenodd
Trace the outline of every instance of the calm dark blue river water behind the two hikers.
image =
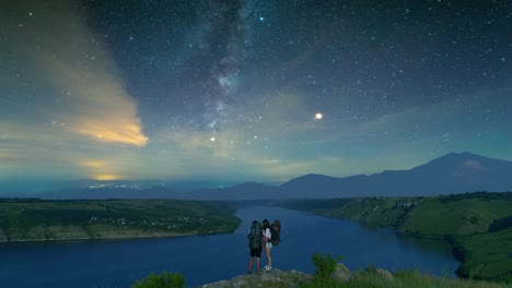
<svg viewBox="0 0 512 288">
<path fill-rule="evenodd" d="M 314 252 L 342 255 L 350 269 L 373 264 L 453 276 L 457 266 L 447 247 L 400 238 L 387 229 L 267 206 L 243 207 L 236 216 L 243 225 L 231 235 L 0 244 L 0 283 L 2 287 L 129 287 L 151 272 L 167 271 L 183 274 L 187 287 L 200 287 L 246 272 L 246 232 L 253 219 L 263 218 L 281 220 L 281 243 L 272 250 L 272 266 L 282 271 L 314 273 Z"/>
</svg>

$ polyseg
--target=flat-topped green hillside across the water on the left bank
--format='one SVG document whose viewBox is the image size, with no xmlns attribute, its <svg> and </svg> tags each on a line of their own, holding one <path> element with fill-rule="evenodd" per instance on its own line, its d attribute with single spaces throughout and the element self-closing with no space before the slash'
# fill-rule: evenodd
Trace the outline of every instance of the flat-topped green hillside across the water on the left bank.
<svg viewBox="0 0 512 288">
<path fill-rule="evenodd" d="M 160 237 L 233 231 L 226 203 L 197 201 L 0 201 L 0 241 Z"/>
</svg>

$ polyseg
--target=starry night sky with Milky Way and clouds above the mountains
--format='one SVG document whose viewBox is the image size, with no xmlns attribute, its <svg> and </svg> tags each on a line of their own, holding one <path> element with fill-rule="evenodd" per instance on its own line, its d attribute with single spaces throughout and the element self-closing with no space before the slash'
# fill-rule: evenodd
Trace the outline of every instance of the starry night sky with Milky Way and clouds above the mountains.
<svg viewBox="0 0 512 288">
<path fill-rule="evenodd" d="M 508 0 L 4 0 L 0 181 L 512 160 Z"/>
</svg>

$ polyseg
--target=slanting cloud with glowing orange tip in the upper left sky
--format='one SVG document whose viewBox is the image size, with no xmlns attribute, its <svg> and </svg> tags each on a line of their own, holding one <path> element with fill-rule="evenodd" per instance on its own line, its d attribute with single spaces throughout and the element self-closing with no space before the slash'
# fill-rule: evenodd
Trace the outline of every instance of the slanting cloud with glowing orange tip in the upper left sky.
<svg viewBox="0 0 512 288">
<path fill-rule="evenodd" d="M 33 17 L 25 25 L 13 25 L 14 17 L 5 20 L 18 29 L 10 29 L 8 35 L 11 57 L 27 68 L 11 88 L 32 95 L 34 92 L 26 89 L 27 86 L 47 87 L 35 92 L 36 98 L 31 104 L 34 109 L 28 117 L 60 123 L 68 133 L 95 140 L 102 135 L 102 142 L 144 146 L 147 137 L 136 103 L 126 92 L 119 70 L 101 37 L 88 28 L 84 19 L 66 1 L 54 5 L 39 1 L 32 4 Z M 22 5 L 10 10 L 25 12 Z"/>
</svg>

